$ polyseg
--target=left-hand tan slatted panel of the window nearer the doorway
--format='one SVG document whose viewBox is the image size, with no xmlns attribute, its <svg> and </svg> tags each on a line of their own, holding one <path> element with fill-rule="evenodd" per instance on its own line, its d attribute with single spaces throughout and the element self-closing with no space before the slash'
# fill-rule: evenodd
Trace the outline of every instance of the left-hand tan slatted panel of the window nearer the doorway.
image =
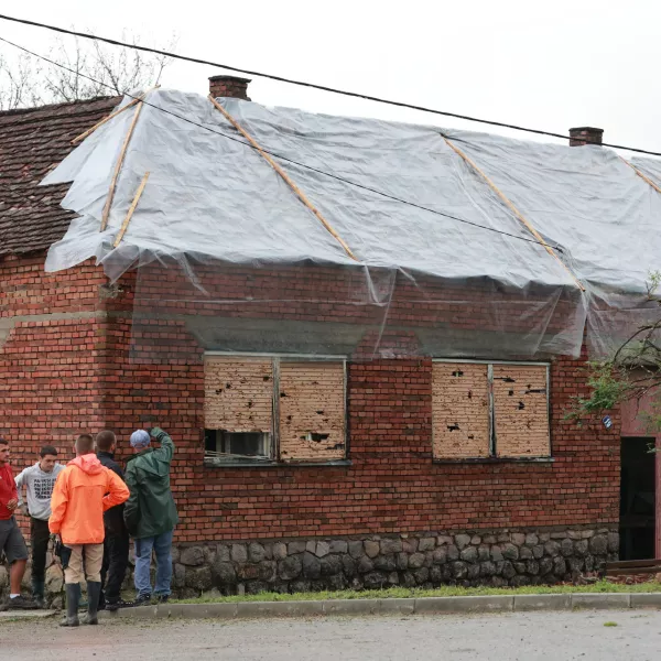
<svg viewBox="0 0 661 661">
<path fill-rule="evenodd" d="M 489 456 L 487 365 L 434 362 L 434 456 Z"/>
</svg>

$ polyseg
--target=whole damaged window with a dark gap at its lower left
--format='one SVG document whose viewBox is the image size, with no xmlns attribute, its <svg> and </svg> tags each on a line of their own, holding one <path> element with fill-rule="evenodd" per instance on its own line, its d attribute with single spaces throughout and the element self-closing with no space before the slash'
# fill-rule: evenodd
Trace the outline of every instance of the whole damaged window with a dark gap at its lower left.
<svg viewBox="0 0 661 661">
<path fill-rule="evenodd" d="M 205 357 L 205 460 L 346 457 L 344 359 Z"/>
</svg>

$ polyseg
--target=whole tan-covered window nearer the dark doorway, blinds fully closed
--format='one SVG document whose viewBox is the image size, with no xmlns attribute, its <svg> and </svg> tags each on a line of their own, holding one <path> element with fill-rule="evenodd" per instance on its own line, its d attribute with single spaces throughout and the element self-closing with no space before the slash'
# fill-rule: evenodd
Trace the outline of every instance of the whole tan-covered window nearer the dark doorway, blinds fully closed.
<svg viewBox="0 0 661 661">
<path fill-rule="evenodd" d="M 434 458 L 550 456 L 548 389 L 546 365 L 434 362 Z"/>
</svg>

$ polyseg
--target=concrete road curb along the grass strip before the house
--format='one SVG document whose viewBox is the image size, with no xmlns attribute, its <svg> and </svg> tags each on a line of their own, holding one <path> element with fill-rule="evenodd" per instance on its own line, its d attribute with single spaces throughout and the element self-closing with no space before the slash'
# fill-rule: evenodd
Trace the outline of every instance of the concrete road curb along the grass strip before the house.
<svg viewBox="0 0 661 661">
<path fill-rule="evenodd" d="M 327 599 L 305 602 L 236 602 L 217 604 L 160 604 L 122 608 L 99 616 L 112 619 L 253 619 L 349 615 L 452 615 L 527 613 L 533 610 L 607 610 L 660 608 L 661 593 L 573 593 L 421 597 L 401 599 Z"/>
</svg>

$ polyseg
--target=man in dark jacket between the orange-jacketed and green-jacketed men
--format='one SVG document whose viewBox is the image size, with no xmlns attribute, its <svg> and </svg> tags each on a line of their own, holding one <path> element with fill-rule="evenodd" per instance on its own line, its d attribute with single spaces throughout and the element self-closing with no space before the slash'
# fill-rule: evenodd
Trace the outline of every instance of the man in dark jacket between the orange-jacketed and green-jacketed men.
<svg viewBox="0 0 661 661">
<path fill-rule="evenodd" d="M 97 457 L 102 466 L 112 470 L 122 480 L 121 466 L 115 460 L 117 438 L 113 432 L 102 431 L 96 436 Z M 123 520 L 123 503 L 110 508 L 104 513 L 104 564 L 101 565 L 101 596 L 99 608 L 117 610 L 132 606 L 132 602 L 121 598 L 121 584 L 129 566 L 129 531 Z"/>
</svg>

